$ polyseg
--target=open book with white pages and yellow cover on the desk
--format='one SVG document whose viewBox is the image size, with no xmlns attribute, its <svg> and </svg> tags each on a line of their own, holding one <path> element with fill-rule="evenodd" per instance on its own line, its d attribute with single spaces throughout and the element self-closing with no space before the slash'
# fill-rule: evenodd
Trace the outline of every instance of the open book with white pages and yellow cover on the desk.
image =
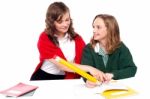
<svg viewBox="0 0 150 99">
<path fill-rule="evenodd" d="M 87 88 L 85 84 L 76 85 L 74 87 L 75 95 L 83 94 L 99 94 L 107 99 L 116 99 L 123 96 L 130 96 L 137 94 L 137 92 L 130 87 L 118 82 L 111 81 L 109 83 L 103 83 L 100 86 L 94 88 Z"/>
</svg>

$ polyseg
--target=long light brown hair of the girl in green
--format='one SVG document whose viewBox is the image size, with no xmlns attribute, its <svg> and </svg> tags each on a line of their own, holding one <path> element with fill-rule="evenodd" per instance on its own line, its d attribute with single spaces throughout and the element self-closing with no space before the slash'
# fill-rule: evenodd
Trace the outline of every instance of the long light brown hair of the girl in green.
<svg viewBox="0 0 150 99">
<path fill-rule="evenodd" d="M 93 22 L 96 18 L 103 19 L 104 24 L 107 28 L 107 40 L 105 50 L 108 54 L 111 54 L 116 48 L 119 47 L 121 42 L 118 22 L 114 16 L 108 14 L 96 15 Z M 94 40 L 93 38 L 91 39 L 90 43 L 92 44 L 93 48 L 95 47 L 97 42 L 98 41 Z"/>
</svg>

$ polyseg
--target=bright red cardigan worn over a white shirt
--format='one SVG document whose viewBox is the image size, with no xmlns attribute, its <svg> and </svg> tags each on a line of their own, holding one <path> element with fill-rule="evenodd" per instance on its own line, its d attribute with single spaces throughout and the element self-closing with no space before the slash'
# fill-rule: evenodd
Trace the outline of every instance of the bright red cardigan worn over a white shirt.
<svg viewBox="0 0 150 99">
<path fill-rule="evenodd" d="M 81 63 L 82 51 L 85 47 L 85 42 L 83 41 L 81 36 L 77 36 L 75 39 L 75 63 Z M 38 40 L 38 50 L 40 53 L 40 63 L 35 68 L 33 74 L 41 68 L 43 61 L 45 59 L 53 58 L 54 55 L 58 55 L 59 57 L 66 60 L 63 52 L 59 47 L 57 47 L 49 38 L 45 32 L 42 32 L 39 40 Z M 79 78 L 80 76 L 75 73 L 66 72 L 65 79 L 74 79 Z"/>
</svg>

